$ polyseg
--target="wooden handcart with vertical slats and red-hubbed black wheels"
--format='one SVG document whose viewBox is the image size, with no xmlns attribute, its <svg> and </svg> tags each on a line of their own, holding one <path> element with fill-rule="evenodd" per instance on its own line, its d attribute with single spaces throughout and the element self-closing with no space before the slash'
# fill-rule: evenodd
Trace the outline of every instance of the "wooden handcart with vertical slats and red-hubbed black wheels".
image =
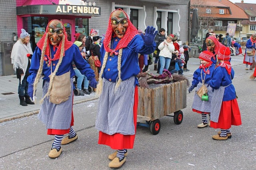
<svg viewBox="0 0 256 170">
<path fill-rule="evenodd" d="M 157 135 L 161 128 L 159 118 L 174 117 L 174 123 L 179 125 L 183 120 L 181 109 L 186 108 L 187 82 L 182 80 L 164 84 L 155 88 L 138 88 L 137 127 L 150 127 L 150 132 Z M 170 115 L 174 113 L 174 115 Z M 140 121 L 146 121 L 141 123 Z"/>
</svg>

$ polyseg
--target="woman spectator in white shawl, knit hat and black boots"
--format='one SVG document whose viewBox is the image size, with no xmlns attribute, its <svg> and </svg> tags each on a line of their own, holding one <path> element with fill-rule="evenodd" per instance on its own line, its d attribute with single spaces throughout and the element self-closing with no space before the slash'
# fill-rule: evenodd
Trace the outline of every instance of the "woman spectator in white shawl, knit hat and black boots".
<svg viewBox="0 0 256 170">
<path fill-rule="evenodd" d="M 28 34 L 25 29 L 21 29 L 20 39 L 13 45 L 11 53 L 13 68 L 19 79 L 18 94 L 21 106 L 35 104 L 28 96 L 27 82 L 32 54 L 30 34 Z"/>
</svg>

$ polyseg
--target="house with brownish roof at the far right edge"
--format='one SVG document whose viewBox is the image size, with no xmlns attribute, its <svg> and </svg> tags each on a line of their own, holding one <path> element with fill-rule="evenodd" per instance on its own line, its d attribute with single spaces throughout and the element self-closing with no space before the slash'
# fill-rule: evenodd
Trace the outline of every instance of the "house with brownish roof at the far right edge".
<svg viewBox="0 0 256 170">
<path fill-rule="evenodd" d="M 241 21 L 241 24 L 243 25 L 243 30 L 240 35 L 241 37 L 249 38 L 250 36 L 252 36 L 252 34 L 256 34 L 256 4 L 244 3 L 243 0 L 241 0 L 241 3 L 235 4 L 242 8 L 248 16 L 247 20 Z"/>
</svg>

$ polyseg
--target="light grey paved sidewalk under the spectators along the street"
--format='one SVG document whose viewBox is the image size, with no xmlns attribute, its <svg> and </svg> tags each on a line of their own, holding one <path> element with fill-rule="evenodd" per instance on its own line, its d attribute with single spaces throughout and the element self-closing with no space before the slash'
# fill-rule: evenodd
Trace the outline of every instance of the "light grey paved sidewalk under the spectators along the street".
<svg viewBox="0 0 256 170">
<path fill-rule="evenodd" d="M 242 55 L 232 56 L 231 58 L 232 66 L 241 65 L 244 59 Z M 190 58 L 188 61 L 188 69 L 190 69 L 190 71 L 184 72 L 184 76 L 193 76 L 199 64 L 200 61 L 198 58 Z M 149 69 L 150 73 L 157 75 L 156 71 L 154 71 L 154 64 L 150 65 Z M 36 104 L 21 106 L 18 97 L 18 79 L 16 75 L 0 76 L 0 123 L 38 113 L 41 107 L 39 102 L 42 97 L 42 80 L 38 83 L 36 97 Z M 96 99 L 98 99 L 98 97 L 96 97 L 95 92 L 92 92 L 90 95 L 74 96 L 74 104 Z"/>
</svg>

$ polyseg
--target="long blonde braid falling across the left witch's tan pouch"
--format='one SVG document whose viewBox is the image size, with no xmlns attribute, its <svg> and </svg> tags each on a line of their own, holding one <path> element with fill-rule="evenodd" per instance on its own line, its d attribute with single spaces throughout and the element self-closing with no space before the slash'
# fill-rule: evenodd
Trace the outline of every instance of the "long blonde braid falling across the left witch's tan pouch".
<svg viewBox="0 0 256 170">
<path fill-rule="evenodd" d="M 61 49 L 60 49 L 60 59 L 56 65 L 56 68 L 54 70 L 54 72 L 52 72 L 52 74 L 50 74 L 50 84 L 49 84 L 49 88 L 48 88 L 48 91 L 47 93 L 44 95 L 44 97 L 40 100 L 40 103 L 42 103 L 44 101 L 44 98 L 46 98 L 46 96 L 49 96 L 50 95 L 50 92 L 52 91 L 52 83 L 53 83 L 53 79 L 54 79 L 54 76 L 56 75 L 56 72 L 58 71 L 59 67 L 60 67 L 60 64 L 62 62 L 62 59 L 63 59 L 63 54 L 64 54 L 64 44 L 65 44 L 65 35 L 63 35 L 62 37 L 62 44 L 61 44 Z"/>
</svg>

